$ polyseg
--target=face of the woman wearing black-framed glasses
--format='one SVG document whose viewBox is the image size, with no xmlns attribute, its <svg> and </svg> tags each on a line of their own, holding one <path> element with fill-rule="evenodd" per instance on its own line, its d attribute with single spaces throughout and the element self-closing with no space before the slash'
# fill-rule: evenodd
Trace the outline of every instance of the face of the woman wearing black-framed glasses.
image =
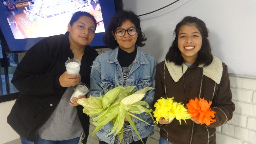
<svg viewBox="0 0 256 144">
<path fill-rule="evenodd" d="M 123 24 L 116 28 L 116 29 L 124 29 L 124 30 L 127 30 L 129 28 L 136 28 L 135 25 L 130 21 L 130 20 L 126 20 L 123 22 Z M 116 32 L 113 32 L 114 34 L 114 37 L 119 45 L 119 47 L 128 52 L 128 53 L 131 53 L 135 50 L 135 43 L 137 41 L 137 37 L 138 37 L 138 33 L 136 33 L 135 35 L 129 35 L 128 32 L 126 31 L 125 32 L 125 35 L 124 36 L 118 36 L 116 34 Z"/>
</svg>

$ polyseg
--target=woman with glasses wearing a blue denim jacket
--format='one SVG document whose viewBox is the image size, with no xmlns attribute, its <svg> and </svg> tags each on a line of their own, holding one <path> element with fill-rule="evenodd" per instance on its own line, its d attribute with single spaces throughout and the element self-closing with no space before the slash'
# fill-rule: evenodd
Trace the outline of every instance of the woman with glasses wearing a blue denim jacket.
<svg viewBox="0 0 256 144">
<path fill-rule="evenodd" d="M 120 86 L 136 86 L 137 90 L 145 87 L 155 87 L 156 60 L 153 56 L 143 53 L 137 46 L 144 46 L 146 38 L 140 28 L 140 19 L 131 11 L 121 11 L 116 13 L 104 35 L 104 43 L 113 49 L 100 54 L 94 61 L 91 70 L 91 89 L 89 95 L 99 97 L 100 93 Z M 142 99 L 150 106 L 153 104 L 154 91 L 147 92 Z M 149 124 L 153 125 L 153 120 L 149 115 L 134 114 Z M 136 118 L 132 118 L 136 128 L 144 141 L 153 134 L 153 126 L 150 126 Z M 97 133 L 100 144 L 117 144 L 119 138 L 112 135 L 113 125 L 106 124 Z M 130 127 L 129 122 L 124 120 L 123 144 L 142 143 L 136 132 Z"/>
</svg>

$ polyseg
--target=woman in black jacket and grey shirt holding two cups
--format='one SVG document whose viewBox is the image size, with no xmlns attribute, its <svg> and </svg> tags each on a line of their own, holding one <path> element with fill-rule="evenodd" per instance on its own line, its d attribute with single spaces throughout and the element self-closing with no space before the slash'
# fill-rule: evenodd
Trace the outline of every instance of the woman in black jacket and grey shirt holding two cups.
<svg viewBox="0 0 256 144">
<path fill-rule="evenodd" d="M 22 144 L 77 144 L 89 133 L 89 117 L 82 113 L 77 98 L 70 97 L 79 81 L 90 84 L 91 65 L 98 53 L 91 48 L 95 18 L 87 12 L 72 16 L 68 31 L 47 37 L 29 49 L 12 79 L 19 90 L 7 122 L 20 135 Z M 65 62 L 81 61 L 80 75 L 68 75 Z M 80 98 L 84 98 L 81 96 Z"/>
</svg>

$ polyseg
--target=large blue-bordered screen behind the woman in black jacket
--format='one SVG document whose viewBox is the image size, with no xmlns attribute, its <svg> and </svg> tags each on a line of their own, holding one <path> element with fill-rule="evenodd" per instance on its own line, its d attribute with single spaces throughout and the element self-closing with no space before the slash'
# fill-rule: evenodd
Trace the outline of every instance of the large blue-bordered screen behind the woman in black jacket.
<svg viewBox="0 0 256 144">
<path fill-rule="evenodd" d="M 116 2 L 116 0 L 115 0 Z M 115 14 L 114 0 L 16 0 L 0 5 L 0 28 L 7 53 L 24 52 L 44 37 L 64 34 L 77 11 L 91 13 L 97 20 L 90 46 L 104 47 L 103 35 Z M 117 5 L 117 4 L 116 4 Z"/>
</svg>

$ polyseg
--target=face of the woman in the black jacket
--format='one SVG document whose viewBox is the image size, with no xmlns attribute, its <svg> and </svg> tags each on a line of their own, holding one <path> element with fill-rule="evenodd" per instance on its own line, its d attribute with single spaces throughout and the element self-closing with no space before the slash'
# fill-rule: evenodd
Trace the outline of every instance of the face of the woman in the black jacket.
<svg viewBox="0 0 256 144">
<path fill-rule="evenodd" d="M 95 24 L 93 20 L 87 16 L 81 16 L 71 26 L 68 24 L 70 47 L 84 48 L 89 45 L 95 35 Z"/>
</svg>

